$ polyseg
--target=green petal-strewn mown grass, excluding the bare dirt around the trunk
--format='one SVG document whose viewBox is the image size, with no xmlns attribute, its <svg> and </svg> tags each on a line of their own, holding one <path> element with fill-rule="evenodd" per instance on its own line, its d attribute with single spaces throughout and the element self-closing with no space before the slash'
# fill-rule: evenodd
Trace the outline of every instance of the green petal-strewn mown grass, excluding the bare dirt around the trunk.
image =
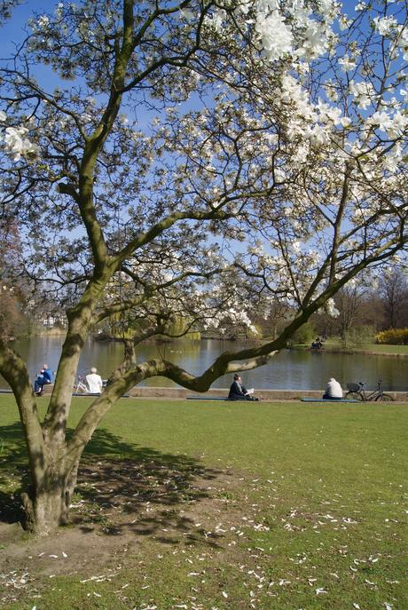
<svg viewBox="0 0 408 610">
<path fill-rule="evenodd" d="M 89 402 L 74 400 L 71 426 Z M 407 407 L 121 400 L 88 458 L 227 471 L 191 525 L 203 535 L 145 536 L 110 580 L 39 577 L 41 598 L 7 607 L 404 610 Z M 0 502 L 25 461 L 16 414 L 0 397 Z"/>
</svg>

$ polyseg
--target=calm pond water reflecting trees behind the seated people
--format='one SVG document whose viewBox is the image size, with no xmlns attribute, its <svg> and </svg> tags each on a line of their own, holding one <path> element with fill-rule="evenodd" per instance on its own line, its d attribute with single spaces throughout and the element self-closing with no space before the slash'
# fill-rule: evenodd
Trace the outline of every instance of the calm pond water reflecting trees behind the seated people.
<svg viewBox="0 0 408 610">
<path fill-rule="evenodd" d="M 25 358 L 30 376 L 34 379 L 43 362 L 52 370 L 58 366 L 62 337 L 33 337 L 16 341 L 15 349 Z M 176 341 L 156 345 L 140 345 L 137 360 L 162 357 L 174 361 L 192 374 L 199 374 L 220 353 L 247 347 L 247 342 L 203 339 L 201 341 Z M 114 342 L 90 339 L 84 347 L 80 360 L 80 373 L 90 367 L 98 368 L 99 374 L 107 378 L 122 360 L 122 345 Z M 384 390 L 406 392 L 408 389 L 408 359 L 366 354 L 326 353 L 321 351 L 283 350 L 269 364 L 245 371 L 242 374 L 247 387 L 279 390 L 320 390 L 326 387 L 329 377 L 336 377 L 346 386 L 348 382 L 364 381 L 367 388 L 375 388 L 377 379 L 382 379 Z M 231 375 L 220 377 L 212 387 L 226 388 L 231 384 Z M 153 377 L 143 385 L 175 386 L 164 377 Z M 0 387 L 7 387 L 0 377 Z"/>
</svg>

